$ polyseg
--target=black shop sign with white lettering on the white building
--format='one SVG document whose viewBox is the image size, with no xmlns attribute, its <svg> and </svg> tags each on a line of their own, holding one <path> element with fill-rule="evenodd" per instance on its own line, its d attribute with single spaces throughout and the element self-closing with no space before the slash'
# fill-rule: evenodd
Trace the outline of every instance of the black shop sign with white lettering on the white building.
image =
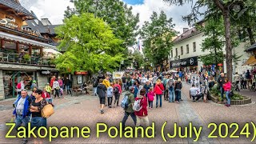
<svg viewBox="0 0 256 144">
<path fill-rule="evenodd" d="M 185 58 L 171 62 L 173 68 L 198 66 L 198 57 Z"/>
</svg>

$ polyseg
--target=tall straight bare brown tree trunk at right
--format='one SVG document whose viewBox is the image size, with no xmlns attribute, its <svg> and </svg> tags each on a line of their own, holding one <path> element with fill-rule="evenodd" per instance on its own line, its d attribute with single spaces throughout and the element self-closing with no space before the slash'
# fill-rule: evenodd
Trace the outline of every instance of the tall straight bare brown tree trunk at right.
<svg viewBox="0 0 256 144">
<path fill-rule="evenodd" d="M 232 43 L 230 32 L 230 11 L 225 8 L 223 11 L 224 26 L 225 26 L 225 39 L 226 39 L 226 75 L 229 81 L 232 83 Z"/>
</svg>

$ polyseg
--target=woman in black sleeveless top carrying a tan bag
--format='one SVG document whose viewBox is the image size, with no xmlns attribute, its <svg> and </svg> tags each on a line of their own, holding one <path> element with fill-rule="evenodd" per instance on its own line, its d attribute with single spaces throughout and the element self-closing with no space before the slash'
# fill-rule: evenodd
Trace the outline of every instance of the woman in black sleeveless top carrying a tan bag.
<svg viewBox="0 0 256 144">
<path fill-rule="evenodd" d="M 34 97 L 35 97 L 35 100 L 31 103 L 31 106 L 30 106 L 30 112 L 32 113 L 31 127 L 36 127 L 36 130 L 38 130 L 38 128 L 41 126 L 44 126 L 44 127 L 47 126 L 46 118 L 42 118 L 42 115 L 41 115 L 41 110 L 44 106 L 46 106 L 47 102 L 46 102 L 46 99 L 42 98 L 42 90 L 35 90 Z M 42 142 L 34 142 L 34 143 L 42 143 Z"/>
</svg>

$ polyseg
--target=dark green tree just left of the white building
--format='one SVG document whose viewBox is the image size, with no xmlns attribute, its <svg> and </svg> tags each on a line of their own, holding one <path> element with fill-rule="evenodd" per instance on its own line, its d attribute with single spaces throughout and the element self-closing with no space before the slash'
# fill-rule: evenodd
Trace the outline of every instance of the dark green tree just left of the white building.
<svg viewBox="0 0 256 144">
<path fill-rule="evenodd" d="M 154 65 L 162 64 L 168 58 L 173 46 L 174 24 L 172 18 L 167 19 L 163 11 L 159 16 L 153 12 L 150 20 L 151 22 L 145 22 L 140 30 L 143 39 L 143 52 L 145 58 Z"/>
</svg>

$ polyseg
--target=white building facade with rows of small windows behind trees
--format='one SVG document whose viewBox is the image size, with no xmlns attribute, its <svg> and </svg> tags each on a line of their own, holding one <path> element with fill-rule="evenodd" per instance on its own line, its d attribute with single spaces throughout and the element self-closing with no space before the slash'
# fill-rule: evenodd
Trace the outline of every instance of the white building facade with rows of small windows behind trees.
<svg viewBox="0 0 256 144">
<path fill-rule="evenodd" d="M 174 39 L 173 49 L 170 50 L 170 66 L 174 70 L 182 70 L 185 72 L 200 71 L 202 69 L 216 70 L 217 66 L 214 63 L 210 66 L 204 66 L 200 61 L 200 56 L 210 54 L 208 50 L 202 51 L 202 42 L 206 37 L 202 31 L 191 28 L 184 30 L 183 34 Z M 233 73 L 238 72 L 242 74 L 243 71 L 250 69 L 250 66 L 243 66 L 244 62 L 249 58 L 246 54 L 246 42 L 240 42 L 239 46 L 233 49 L 233 54 L 242 56 L 237 63 L 233 63 Z M 223 54 L 226 54 L 225 46 L 223 47 Z M 214 62 L 214 57 L 213 57 Z M 218 64 L 218 70 L 226 73 L 226 61 Z"/>
</svg>

